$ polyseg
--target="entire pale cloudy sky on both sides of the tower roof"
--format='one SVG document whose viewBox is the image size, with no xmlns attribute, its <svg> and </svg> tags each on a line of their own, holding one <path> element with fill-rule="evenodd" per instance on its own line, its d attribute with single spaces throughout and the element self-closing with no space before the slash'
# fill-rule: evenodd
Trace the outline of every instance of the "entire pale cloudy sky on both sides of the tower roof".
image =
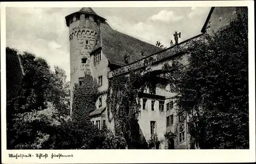
<svg viewBox="0 0 256 164">
<path fill-rule="evenodd" d="M 81 7 L 82 8 L 82 7 Z M 81 8 L 6 8 L 6 46 L 28 51 L 64 69 L 70 80 L 69 28 L 65 16 Z M 119 32 L 169 47 L 175 31 L 179 42 L 200 34 L 210 7 L 92 8 Z"/>
</svg>

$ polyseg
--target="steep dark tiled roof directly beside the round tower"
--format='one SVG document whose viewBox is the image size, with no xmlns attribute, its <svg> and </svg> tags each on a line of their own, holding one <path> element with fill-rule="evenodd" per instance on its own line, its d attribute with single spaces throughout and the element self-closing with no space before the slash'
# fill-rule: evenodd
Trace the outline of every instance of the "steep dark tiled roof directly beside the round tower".
<svg viewBox="0 0 256 164">
<path fill-rule="evenodd" d="M 100 24 L 100 33 L 96 36 L 96 39 L 99 41 L 94 46 L 91 55 L 101 48 L 106 58 L 112 64 L 119 66 L 127 64 L 124 61 L 125 55 L 129 56 L 129 63 L 131 63 L 163 50 L 156 45 L 113 30 L 107 23 Z M 141 51 L 144 52 L 143 56 Z"/>
</svg>

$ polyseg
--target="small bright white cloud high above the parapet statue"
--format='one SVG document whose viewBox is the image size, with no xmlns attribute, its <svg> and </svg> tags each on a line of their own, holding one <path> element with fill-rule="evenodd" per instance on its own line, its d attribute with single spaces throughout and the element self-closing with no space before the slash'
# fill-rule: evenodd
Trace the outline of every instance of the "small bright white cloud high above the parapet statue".
<svg viewBox="0 0 256 164">
<path fill-rule="evenodd" d="M 150 16 L 149 20 L 160 20 L 164 22 L 175 22 L 182 19 L 184 16 L 176 15 L 174 11 L 161 10 L 158 14 Z"/>
</svg>

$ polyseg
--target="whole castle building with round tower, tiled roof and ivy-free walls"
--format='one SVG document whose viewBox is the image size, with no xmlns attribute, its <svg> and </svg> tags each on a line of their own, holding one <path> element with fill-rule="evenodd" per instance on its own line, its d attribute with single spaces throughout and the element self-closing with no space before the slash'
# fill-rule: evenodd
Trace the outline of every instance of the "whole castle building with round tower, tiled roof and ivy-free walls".
<svg viewBox="0 0 256 164">
<path fill-rule="evenodd" d="M 143 66 L 148 66 L 151 70 L 159 69 L 164 63 L 172 65 L 174 60 L 185 62 L 186 55 L 182 50 L 192 40 L 203 41 L 203 34 L 210 33 L 209 29 L 221 31 L 228 28 L 229 20 L 236 17 L 237 13 L 244 13 L 244 8 L 212 7 L 201 30 L 202 34 L 165 50 L 113 30 L 106 19 L 91 8 L 82 8 L 66 16 L 70 34 L 71 107 L 74 84 L 81 84 L 84 73 L 92 75 L 99 86 L 99 97 L 96 110 L 90 113 L 91 121 L 99 129 L 106 125 L 114 130 L 114 123 L 108 121 L 106 113 L 106 94 L 110 78 L 139 69 L 142 67 L 141 63 L 145 63 L 147 59 L 153 59 L 153 63 Z M 177 132 L 181 115 L 177 112 L 175 101 L 170 99 L 176 93 L 172 84 L 168 84 L 164 77 L 159 78 L 161 80 L 157 84 L 155 95 L 147 91 L 141 93 L 138 124 L 142 140 L 147 141 L 153 134 L 157 134 L 160 140 L 158 149 L 189 149 L 188 119 L 184 121 L 184 128 Z M 195 148 L 198 148 L 197 144 Z"/>
</svg>

